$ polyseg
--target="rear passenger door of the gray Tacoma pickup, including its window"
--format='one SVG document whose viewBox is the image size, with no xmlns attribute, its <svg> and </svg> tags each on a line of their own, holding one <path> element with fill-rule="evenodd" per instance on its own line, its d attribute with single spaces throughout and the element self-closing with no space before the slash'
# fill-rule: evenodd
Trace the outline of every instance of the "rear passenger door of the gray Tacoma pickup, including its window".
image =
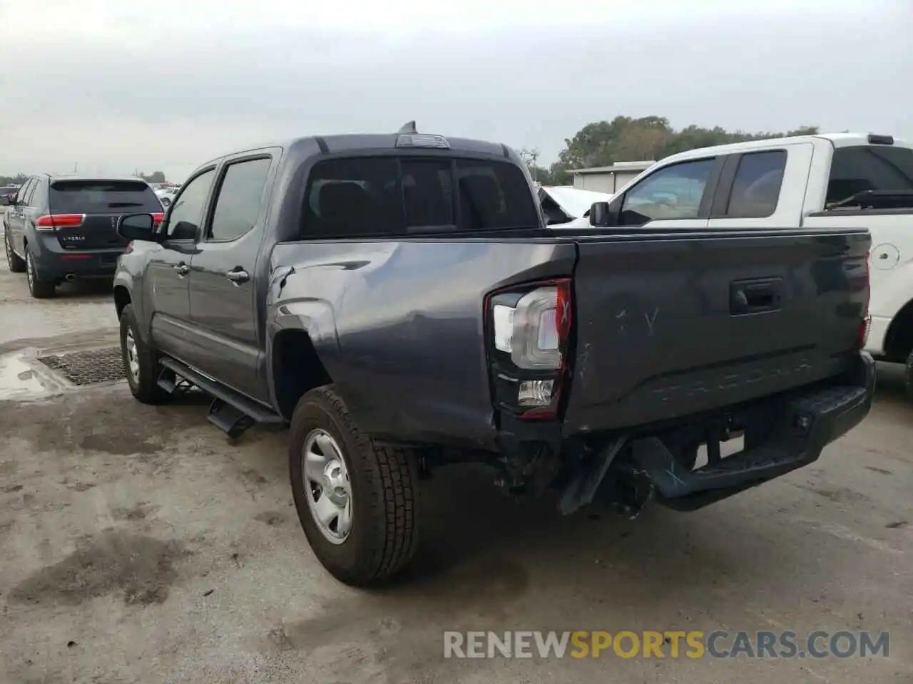
<svg viewBox="0 0 913 684">
<path fill-rule="evenodd" d="M 261 401 L 268 400 L 268 387 L 257 376 L 263 345 L 255 274 L 276 157 L 264 153 L 226 161 L 190 276 L 194 365 Z"/>
</svg>

